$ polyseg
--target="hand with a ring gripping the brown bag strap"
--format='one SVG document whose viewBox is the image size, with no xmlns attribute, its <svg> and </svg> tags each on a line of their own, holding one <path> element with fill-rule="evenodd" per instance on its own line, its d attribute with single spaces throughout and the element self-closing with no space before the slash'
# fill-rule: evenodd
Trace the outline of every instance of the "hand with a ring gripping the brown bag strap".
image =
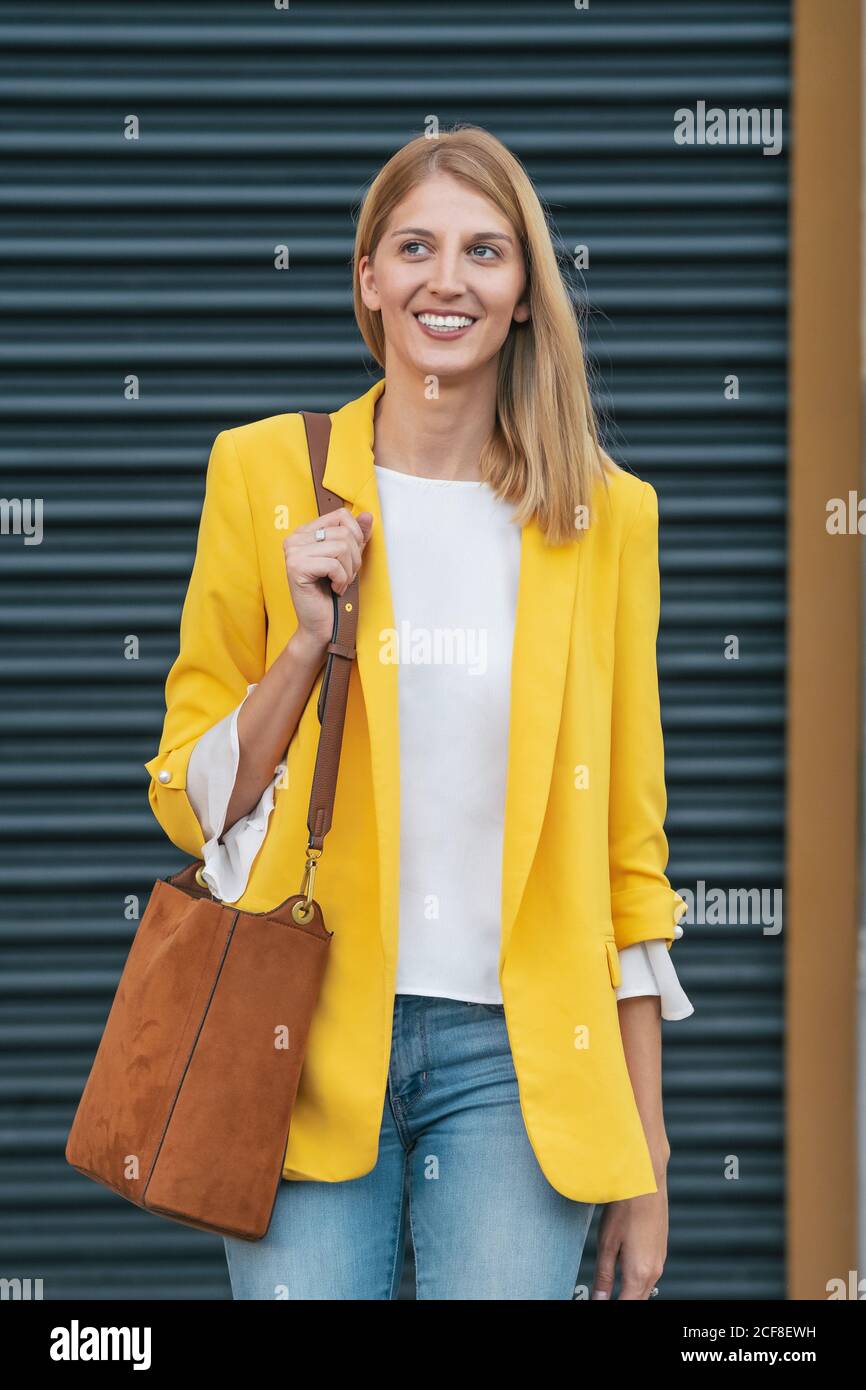
<svg viewBox="0 0 866 1390">
<path fill-rule="evenodd" d="M 316 539 L 320 527 L 325 531 L 324 541 Z M 371 512 L 353 517 L 348 507 L 338 507 L 297 527 L 282 542 L 297 632 L 316 646 L 324 649 L 331 641 L 331 594 L 345 594 L 354 580 L 371 530 Z"/>
</svg>

